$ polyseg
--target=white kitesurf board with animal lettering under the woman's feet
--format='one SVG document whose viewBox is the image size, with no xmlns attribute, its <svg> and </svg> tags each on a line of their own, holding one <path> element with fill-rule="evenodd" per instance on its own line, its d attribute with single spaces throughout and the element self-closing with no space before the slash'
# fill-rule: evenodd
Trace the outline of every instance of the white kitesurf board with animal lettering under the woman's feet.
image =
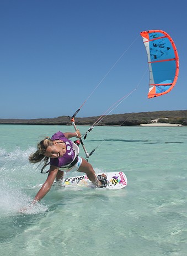
<svg viewBox="0 0 187 256">
<path fill-rule="evenodd" d="M 103 173 L 98 173 L 103 174 Z M 127 185 L 127 177 L 122 171 L 115 171 L 112 173 L 104 173 L 108 184 L 106 189 L 123 189 Z M 59 184 L 60 183 L 60 184 Z M 54 185 L 60 185 L 62 187 L 71 187 L 71 186 L 84 186 L 84 187 L 93 187 L 95 185 L 88 179 L 87 175 L 74 176 L 74 177 L 65 177 L 61 182 L 54 182 Z M 33 189 L 41 187 L 42 184 L 36 185 Z"/>
</svg>

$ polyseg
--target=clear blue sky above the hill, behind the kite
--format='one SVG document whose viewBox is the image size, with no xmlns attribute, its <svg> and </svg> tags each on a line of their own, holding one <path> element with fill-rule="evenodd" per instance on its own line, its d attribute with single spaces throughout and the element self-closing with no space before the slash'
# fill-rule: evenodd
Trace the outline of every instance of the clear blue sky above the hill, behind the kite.
<svg viewBox="0 0 187 256">
<path fill-rule="evenodd" d="M 187 109 L 181 2 L 1 0 L 0 118 L 71 116 L 92 92 L 77 117 L 101 116 L 136 87 L 110 114 Z M 140 32 L 151 29 L 172 36 L 180 69 L 171 92 L 148 99 Z"/>
</svg>

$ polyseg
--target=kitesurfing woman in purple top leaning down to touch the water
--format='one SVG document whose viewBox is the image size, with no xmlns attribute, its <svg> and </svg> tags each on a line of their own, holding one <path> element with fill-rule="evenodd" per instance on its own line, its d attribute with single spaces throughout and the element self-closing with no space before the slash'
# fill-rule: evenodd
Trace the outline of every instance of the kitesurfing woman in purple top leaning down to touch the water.
<svg viewBox="0 0 187 256">
<path fill-rule="evenodd" d="M 86 173 L 88 179 L 97 187 L 105 187 L 106 176 L 97 175 L 87 160 L 78 156 L 79 148 L 70 138 L 81 138 L 79 130 L 76 132 L 57 132 L 51 138 L 46 137 L 38 143 L 38 150 L 29 156 L 30 163 L 44 162 L 42 170 L 50 159 L 50 169 L 48 176 L 32 203 L 40 201 L 51 189 L 52 184 L 63 179 L 64 171 L 80 171 Z M 78 148 L 78 150 L 77 150 Z"/>
</svg>

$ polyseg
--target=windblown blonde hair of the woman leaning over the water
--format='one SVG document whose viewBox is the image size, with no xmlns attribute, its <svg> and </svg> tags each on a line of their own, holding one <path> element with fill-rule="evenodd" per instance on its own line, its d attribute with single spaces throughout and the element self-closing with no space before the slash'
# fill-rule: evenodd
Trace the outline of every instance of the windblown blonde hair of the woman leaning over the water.
<svg viewBox="0 0 187 256">
<path fill-rule="evenodd" d="M 44 166 L 42 167 L 42 170 L 45 168 L 47 165 L 47 161 L 49 160 L 49 157 L 45 156 L 45 151 L 47 147 L 52 146 L 54 144 L 54 141 L 50 139 L 49 137 L 46 137 L 45 139 L 41 140 L 37 144 L 37 150 L 29 155 L 29 161 L 30 163 L 39 163 L 39 162 L 44 162 Z"/>
</svg>

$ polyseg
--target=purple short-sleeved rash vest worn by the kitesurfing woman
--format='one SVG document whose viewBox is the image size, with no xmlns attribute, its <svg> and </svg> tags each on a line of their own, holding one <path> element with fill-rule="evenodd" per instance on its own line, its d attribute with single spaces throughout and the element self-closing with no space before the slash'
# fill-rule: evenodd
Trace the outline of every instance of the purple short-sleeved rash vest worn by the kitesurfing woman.
<svg viewBox="0 0 187 256">
<path fill-rule="evenodd" d="M 57 132 L 51 137 L 52 140 L 63 140 L 66 144 L 66 153 L 62 156 L 62 158 L 50 158 L 50 165 L 55 165 L 58 167 L 66 166 L 73 161 L 74 158 L 74 150 L 72 141 L 67 139 L 62 132 Z"/>
</svg>

